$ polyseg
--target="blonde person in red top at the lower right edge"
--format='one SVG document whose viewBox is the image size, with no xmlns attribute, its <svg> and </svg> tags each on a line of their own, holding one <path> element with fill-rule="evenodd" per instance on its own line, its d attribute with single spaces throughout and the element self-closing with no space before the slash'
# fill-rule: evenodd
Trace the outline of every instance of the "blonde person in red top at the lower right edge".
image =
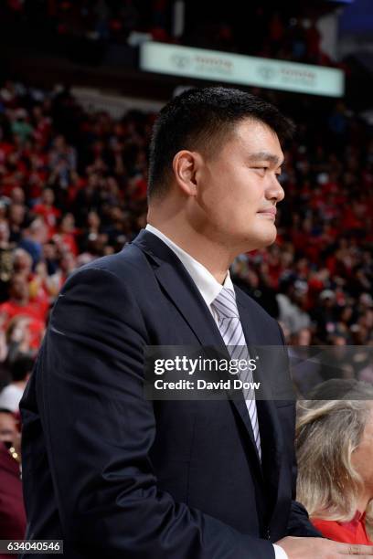
<svg viewBox="0 0 373 559">
<path fill-rule="evenodd" d="M 372 543 L 373 387 L 332 379 L 298 402 L 297 499 L 326 538 Z"/>
</svg>

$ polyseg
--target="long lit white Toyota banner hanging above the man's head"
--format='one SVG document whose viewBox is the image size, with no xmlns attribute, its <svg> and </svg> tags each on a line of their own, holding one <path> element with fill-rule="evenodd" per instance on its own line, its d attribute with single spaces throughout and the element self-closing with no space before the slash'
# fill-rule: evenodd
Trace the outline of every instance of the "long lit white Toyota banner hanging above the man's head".
<svg viewBox="0 0 373 559">
<path fill-rule="evenodd" d="M 345 92 L 345 75 L 340 69 L 165 43 L 141 45 L 140 69 L 327 97 L 342 97 Z"/>
</svg>

